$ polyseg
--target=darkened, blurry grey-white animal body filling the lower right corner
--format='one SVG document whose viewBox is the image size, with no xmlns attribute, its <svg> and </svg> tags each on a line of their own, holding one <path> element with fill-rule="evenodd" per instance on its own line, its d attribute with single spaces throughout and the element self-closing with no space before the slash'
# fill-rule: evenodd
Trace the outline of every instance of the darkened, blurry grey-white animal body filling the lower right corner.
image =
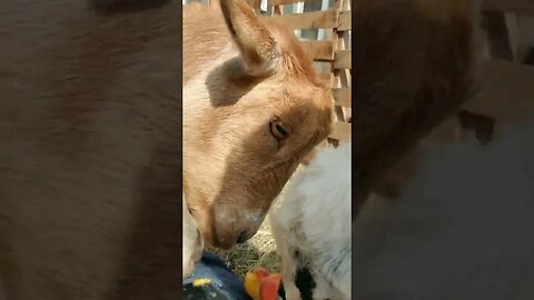
<svg viewBox="0 0 534 300">
<path fill-rule="evenodd" d="M 534 123 L 441 147 L 396 201 L 374 198 L 355 221 L 353 296 L 534 299 L 533 232 Z"/>
</svg>

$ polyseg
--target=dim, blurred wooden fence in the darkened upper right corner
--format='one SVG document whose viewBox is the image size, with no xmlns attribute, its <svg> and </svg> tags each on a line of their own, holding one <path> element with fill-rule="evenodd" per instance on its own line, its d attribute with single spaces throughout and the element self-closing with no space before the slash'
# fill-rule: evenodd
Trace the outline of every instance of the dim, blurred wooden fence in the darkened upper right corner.
<svg viewBox="0 0 534 300">
<path fill-rule="evenodd" d="M 485 60 L 478 92 L 439 128 L 442 140 L 474 131 L 487 143 L 495 132 L 534 117 L 534 1 L 483 0 L 482 13 Z"/>
</svg>

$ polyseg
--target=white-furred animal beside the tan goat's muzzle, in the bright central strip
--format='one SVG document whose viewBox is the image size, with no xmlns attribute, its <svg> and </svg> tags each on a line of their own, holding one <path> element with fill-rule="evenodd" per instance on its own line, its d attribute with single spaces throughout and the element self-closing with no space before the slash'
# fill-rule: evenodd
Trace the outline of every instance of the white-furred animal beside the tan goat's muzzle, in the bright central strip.
<svg viewBox="0 0 534 300">
<path fill-rule="evenodd" d="M 350 299 L 350 143 L 319 150 L 270 211 L 288 300 L 301 299 L 296 272 L 307 268 L 314 299 Z"/>
</svg>

